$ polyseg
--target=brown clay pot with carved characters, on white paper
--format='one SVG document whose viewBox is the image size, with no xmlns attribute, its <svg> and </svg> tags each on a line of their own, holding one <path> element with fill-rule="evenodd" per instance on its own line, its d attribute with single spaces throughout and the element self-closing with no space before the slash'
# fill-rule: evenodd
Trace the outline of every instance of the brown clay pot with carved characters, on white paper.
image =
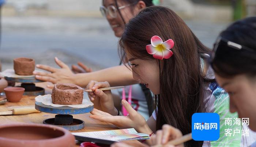
<svg viewBox="0 0 256 147">
<path fill-rule="evenodd" d="M 60 105 L 78 105 L 83 102 L 83 88 L 75 84 L 55 84 L 52 102 Z"/>
</svg>

